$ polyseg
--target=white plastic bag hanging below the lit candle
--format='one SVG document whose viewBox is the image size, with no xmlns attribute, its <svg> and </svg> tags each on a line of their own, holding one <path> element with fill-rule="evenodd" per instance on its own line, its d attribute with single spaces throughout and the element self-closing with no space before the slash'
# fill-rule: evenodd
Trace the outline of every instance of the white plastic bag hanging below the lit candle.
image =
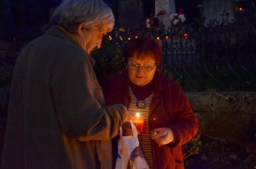
<svg viewBox="0 0 256 169">
<path fill-rule="evenodd" d="M 115 169 L 149 169 L 141 150 L 139 150 L 138 132 L 132 120 L 131 128 L 133 136 L 123 136 L 123 130 L 120 127 Z"/>
</svg>

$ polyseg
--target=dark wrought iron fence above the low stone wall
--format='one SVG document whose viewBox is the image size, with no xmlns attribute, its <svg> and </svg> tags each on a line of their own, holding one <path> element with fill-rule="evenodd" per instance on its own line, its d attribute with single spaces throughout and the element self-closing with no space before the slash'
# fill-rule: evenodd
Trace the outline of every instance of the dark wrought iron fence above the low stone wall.
<svg viewBox="0 0 256 169">
<path fill-rule="evenodd" d="M 167 30 L 174 37 L 162 40 L 167 69 L 186 90 L 255 90 L 255 16 L 252 3 L 251 10 L 237 13 L 236 21 L 226 16 L 226 26 L 212 20 L 208 27 L 179 30 L 178 36 Z"/>
</svg>

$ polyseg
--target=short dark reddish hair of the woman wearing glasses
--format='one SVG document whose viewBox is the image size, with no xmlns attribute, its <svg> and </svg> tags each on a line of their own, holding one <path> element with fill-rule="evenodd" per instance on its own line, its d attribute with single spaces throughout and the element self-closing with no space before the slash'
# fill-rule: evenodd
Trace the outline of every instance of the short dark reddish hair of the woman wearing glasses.
<svg viewBox="0 0 256 169">
<path fill-rule="evenodd" d="M 150 55 L 155 59 L 158 65 L 162 56 L 161 46 L 158 41 L 149 37 L 138 37 L 129 41 L 125 46 L 124 56 L 126 63 L 128 59 L 134 55 L 136 55 L 137 58 Z"/>
</svg>

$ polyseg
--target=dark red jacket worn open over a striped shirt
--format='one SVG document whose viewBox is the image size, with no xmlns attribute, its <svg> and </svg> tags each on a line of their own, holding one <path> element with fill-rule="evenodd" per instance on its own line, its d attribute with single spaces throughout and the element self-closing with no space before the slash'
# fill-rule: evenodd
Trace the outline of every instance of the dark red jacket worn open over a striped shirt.
<svg viewBox="0 0 256 169">
<path fill-rule="evenodd" d="M 151 142 L 154 168 L 184 168 L 181 146 L 196 135 L 197 119 L 181 87 L 160 74 L 159 71 L 155 72 L 154 78 L 154 95 L 148 121 L 149 131 L 168 127 L 172 129 L 176 141 L 176 144 L 161 147 L 155 141 Z M 110 77 L 103 88 L 106 105 L 120 103 L 128 109 L 130 104 L 128 91 L 127 71 Z"/>
</svg>

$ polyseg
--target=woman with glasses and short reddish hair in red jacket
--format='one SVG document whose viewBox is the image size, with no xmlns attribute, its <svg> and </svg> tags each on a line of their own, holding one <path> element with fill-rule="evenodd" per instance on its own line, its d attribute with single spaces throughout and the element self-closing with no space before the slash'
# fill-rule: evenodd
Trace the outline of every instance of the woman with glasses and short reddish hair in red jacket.
<svg viewBox="0 0 256 169">
<path fill-rule="evenodd" d="M 197 119 L 181 87 L 158 71 L 160 45 L 139 37 L 126 45 L 124 54 L 127 70 L 107 80 L 106 104 L 124 104 L 130 114 L 144 116 L 138 140 L 150 168 L 184 168 L 181 146 L 196 135 Z M 117 139 L 113 153 L 117 156 Z"/>
</svg>

